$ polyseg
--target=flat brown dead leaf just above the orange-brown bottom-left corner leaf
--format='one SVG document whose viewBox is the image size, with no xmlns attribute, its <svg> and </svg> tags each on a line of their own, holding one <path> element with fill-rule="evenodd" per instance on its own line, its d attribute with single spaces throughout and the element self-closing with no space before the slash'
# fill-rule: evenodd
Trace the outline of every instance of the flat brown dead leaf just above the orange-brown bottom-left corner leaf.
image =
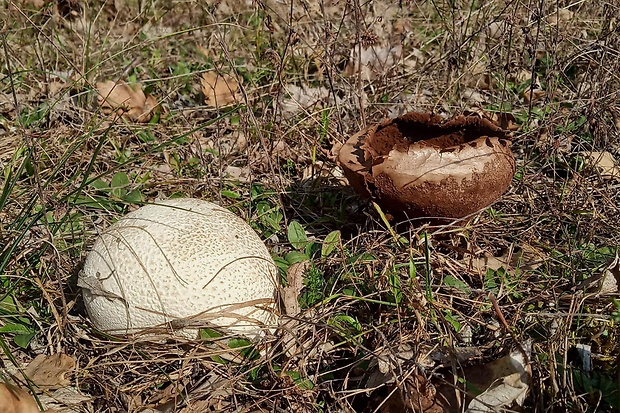
<svg viewBox="0 0 620 413">
<path fill-rule="evenodd" d="M 75 359 L 66 354 L 51 356 L 39 354 L 26 367 L 26 375 L 43 389 L 67 387 L 71 380 L 67 377 L 75 369 Z"/>
</svg>

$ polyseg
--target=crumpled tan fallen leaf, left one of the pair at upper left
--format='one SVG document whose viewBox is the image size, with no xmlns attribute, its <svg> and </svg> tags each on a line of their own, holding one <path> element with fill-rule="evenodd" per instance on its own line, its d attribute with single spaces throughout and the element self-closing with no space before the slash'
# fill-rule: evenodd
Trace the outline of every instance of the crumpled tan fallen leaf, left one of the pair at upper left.
<svg viewBox="0 0 620 413">
<path fill-rule="evenodd" d="M 159 106 L 153 96 L 144 94 L 140 84 L 128 85 L 122 80 L 98 82 L 97 93 L 103 113 L 115 112 L 130 122 L 150 121 Z"/>
</svg>

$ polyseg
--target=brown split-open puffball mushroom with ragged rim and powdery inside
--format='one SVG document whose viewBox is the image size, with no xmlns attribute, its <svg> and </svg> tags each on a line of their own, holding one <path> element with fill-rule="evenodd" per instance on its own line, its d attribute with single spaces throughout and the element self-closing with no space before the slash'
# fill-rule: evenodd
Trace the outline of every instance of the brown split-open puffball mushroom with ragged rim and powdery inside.
<svg viewBox="0 0 620 413">
<path fill-rule="evenodd" d="M 358 193 L 409 218 L 462 218 L 499 198 L 515 173 L 507 133 L 477 116 L 385 120 L 351 137 L 338 161 Z"/>
</svg>

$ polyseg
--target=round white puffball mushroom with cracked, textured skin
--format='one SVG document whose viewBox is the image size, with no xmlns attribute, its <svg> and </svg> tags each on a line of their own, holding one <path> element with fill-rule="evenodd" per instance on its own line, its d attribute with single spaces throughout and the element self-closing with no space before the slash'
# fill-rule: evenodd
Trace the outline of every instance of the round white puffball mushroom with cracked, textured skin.
<svg viewBox="0 0 620 413">
<path fill-rule="evenodd" d="M 157 327 L 195 335 L 216 326 L 257 336 L 277 318 L 277 274 L 243 219 L 181 198 L 143 206 L 106 229 L 78 285 L 94 326 L 111 334 Z"/>
</svg>

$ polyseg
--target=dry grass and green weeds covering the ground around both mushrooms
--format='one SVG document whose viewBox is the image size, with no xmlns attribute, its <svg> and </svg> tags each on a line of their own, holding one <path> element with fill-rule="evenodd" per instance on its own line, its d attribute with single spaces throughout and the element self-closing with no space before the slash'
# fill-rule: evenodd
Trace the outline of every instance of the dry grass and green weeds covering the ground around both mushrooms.
<svg viewBox="0 0 620 413">
<path fill-rule="evenodd" d="M 0 330 L 0 377 L 23 382 L 14 364 L 64 352 L 88 396 L 75 411 L 415 411 L 456 384 L 452 373 L 531 339 L 526 410 L 618 408 L 618 290 L 588 280 L 618 253 L 620 180 L 584 161 L 620 159 L 614 2 L 3 7 L 0 329 L 22 330 Z M 363 48 L 366 67 L 355 64 Z M 237 79 L 238 105 L 203 104 L 209 70 Z M 104 115 L 95 84 L 108 79 L 141 82 L 164 107 L 158 121 Z M 528 101 L 531 84 L 544 93 Z M 514 115 L 517 174 L 487 211 L 400 223 L 395 237 L 343 185 L 332 148 L 411 110 Z M 119 172 L 125 187 L 93 186 Z M 304 311 L 257 352 L 89 326 L 75 280 L 96 234 L 176 194 L 244 216 L 278 257 L 293 250 L 292 220 L 319 250 L 341 231 L 334 254 L 311 257 Z M 519 259 L 479 271 L 485 254 Z M 590 387 L 570 367 L 578 344 L 595 355 Z"/>
</svg>

